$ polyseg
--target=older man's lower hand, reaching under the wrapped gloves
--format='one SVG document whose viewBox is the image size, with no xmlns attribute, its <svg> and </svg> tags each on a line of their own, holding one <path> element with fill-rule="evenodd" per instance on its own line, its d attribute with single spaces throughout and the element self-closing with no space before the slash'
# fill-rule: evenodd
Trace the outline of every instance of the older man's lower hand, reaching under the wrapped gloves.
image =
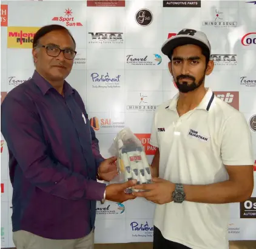
<svg viewBox="0 0 256 249">
<path fill-rule="evenodd" d="M 114 183 L 106 187 L 106 199 L 109 201 L 115 202 L 124 202 L 128 199 L 135 199 L 136 196 L 133 196 L 131 193 L 125 193 L 125 190 L 129 187 L 135 186 L 136 180 L 130 180 L 126 183 Z"/>
</svg>

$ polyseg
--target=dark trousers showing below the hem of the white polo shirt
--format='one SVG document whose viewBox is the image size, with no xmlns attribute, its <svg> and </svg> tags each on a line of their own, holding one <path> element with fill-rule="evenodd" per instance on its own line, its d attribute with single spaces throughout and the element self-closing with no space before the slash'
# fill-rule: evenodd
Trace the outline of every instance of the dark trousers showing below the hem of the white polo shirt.
<svg viewBox="0 0 256 249">
<path fill-rule="evenodd" d="M 177 242 L 165 239 L 157 227 L 153 227 L 153 249 L 191 249 Z"/>
</svg>

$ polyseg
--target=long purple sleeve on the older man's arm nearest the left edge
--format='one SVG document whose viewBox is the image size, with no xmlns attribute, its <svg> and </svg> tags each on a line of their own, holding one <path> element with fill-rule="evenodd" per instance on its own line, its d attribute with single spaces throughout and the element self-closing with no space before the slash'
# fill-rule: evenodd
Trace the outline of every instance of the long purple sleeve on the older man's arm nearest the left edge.
<svg viewBox="0 0 256 249">
<path fill-rule="evenodd" d="M 29 99 L 7 96 L 1 105 L 1 132 L 25 178 L 64 199 L 103 199 L 106 184 L 72 172 L 51 160 L 41 121 Z"/>
</svg>

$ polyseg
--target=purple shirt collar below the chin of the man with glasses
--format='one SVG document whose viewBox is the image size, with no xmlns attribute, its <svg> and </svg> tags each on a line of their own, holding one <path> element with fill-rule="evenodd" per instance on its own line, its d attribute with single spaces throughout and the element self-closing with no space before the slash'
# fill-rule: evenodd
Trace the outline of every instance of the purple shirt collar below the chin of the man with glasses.
<svg viewBox="0 0 256 249">
<path fill-rule="evenodd" d="M 41 90 L 42 94 L 46 94 L 47 91 L 49 91 L 49 89 L 53 88 L 53 86 L 47 82 L 47 80 L 44 79 L 44 77 L 42 77 L 36 70 L 33 73 L 32 79 L 34 80 L 34 82 L 36 83 L 36 85 L 39 87 L 39 89 Z M 72 88 L 72 86 L 69 85 L 69 83 L 66 82 L 66 80 L 64 80 L 64 86 L 63 86 L 63 92 L 64 95 L 70 95 L 75 91 L 74 88 Z"/>
</svg>

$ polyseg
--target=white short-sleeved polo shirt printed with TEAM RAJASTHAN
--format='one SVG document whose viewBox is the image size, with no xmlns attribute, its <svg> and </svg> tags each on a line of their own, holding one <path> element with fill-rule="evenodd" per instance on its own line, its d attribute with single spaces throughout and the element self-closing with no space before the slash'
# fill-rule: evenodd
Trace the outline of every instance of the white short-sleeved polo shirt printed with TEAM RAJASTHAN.
<svg viewBox="0 0 256 249">
<path fill-rule="evenodd" d="M 160 149 L 160 178 L 172 183 L 226 181 L 226 165 L 252 165 L 249 126 L 241 112 L 208 89 L 200 105 L 179 117 L 178 94 L 158 106 L 150 144 Z M 154 225 L 164 238 L 192 249 L 227 249 L 229 204 L 184 201 L 157 205 Z"/>
</svg>

